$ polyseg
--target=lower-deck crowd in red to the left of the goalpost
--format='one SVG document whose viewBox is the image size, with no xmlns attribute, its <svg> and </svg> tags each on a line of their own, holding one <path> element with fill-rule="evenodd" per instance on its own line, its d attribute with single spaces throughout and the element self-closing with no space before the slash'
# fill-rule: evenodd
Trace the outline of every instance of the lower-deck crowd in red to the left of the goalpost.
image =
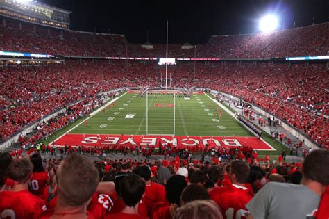
<svg viewBox="0 0 329 219">
<path fill-rule="evenodd" d="M 0 140 L 69 104 L 90 102 L 99 92 L 135 84 L 158 86 L 155 77 L 148 76 L 153 69 L 154 65 L 140 63 L 95 65 L 91 61 L 1 68 Z"/>
</svg>

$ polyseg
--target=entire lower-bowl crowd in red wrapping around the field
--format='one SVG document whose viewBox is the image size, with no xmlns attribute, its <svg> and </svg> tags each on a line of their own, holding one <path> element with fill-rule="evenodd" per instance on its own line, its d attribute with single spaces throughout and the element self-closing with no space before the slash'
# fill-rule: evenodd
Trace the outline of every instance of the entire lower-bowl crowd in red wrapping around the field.
<svg viewBox="0 0 329 219">
<path fill-rule="evenodd" d="M 115 88 L 157 87 L 165 77 L 164 67 L 156 63 L 119 60 L 81 64 L 69 60 L 65 65 L 0 71 L 2 139 L 67 104 L 91 101 L 97 93 Z M 171 87 L 211 88 L 235 95 L 300 129 L 319 145 L 329 145 L 328 120 L 323 117 L 329 113 L 324 65 L 178 63 L 168 68 L 168 74 Z"/>
</svg>

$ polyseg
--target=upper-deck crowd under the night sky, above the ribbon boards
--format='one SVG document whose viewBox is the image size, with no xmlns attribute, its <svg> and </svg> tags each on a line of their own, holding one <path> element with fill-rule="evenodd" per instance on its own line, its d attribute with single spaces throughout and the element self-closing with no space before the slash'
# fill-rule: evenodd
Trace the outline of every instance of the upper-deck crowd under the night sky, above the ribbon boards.
<svg viewBox="0 0 329 219">
<path fill-rule="evenodd" d="M 166 45 L 146 49 L 142 44 L 128 44 L 124 35 L 60 31 L 43 26 L 10 21 L 0 25 L 2 51 L 21 51 L 64 56 L 165 57 Z M 329 23 L 298 29 L 244 35 L 212 36 L 208 44 L 182 49 L 169 44 L 168 56 L 175 58 L 273 58 L 319 56 L 328 51 Z"/>
</svg>

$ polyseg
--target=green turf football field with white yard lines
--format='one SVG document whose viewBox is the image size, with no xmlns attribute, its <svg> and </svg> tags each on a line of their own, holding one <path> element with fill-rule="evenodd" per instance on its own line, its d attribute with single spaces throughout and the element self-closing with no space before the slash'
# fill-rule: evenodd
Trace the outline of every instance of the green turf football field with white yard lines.
<svg viewBox="0 0 329 219">
<path fill-rule="evenodd" d="M 217 110 L 217 104 L 205 94 L 192 94 L 190 99 L 149 95 L 146 106 L 146 97 L 128 92 L 115 106 L 90 117 L 87 127 L 81 123 L 69 133 L 253 136 L 223 108 Z"/>
</svg>

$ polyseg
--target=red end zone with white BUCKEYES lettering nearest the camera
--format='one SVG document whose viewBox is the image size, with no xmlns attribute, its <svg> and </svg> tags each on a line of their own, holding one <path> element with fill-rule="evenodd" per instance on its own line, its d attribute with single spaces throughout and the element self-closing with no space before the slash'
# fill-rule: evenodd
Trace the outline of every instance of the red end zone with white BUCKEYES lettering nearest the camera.
<svg viewBox="0 0 329 219">
<path fill-rule="evenodd" d="M 55 145 L 71 146 L 122 146 L 132 147 L 140 145 L 153 145 L 158 147 L 160 144 L 177 145 L 179 148 L 187 147 L 252 147 L 256 150 L 271 151 L 276 150 L 263 140 L 256 137 L 210 137 L 210 136 L 129 136 L 129 135 L 96 135 L 96 134 L 65 134 L 56 140 Z"/>
</svg>

